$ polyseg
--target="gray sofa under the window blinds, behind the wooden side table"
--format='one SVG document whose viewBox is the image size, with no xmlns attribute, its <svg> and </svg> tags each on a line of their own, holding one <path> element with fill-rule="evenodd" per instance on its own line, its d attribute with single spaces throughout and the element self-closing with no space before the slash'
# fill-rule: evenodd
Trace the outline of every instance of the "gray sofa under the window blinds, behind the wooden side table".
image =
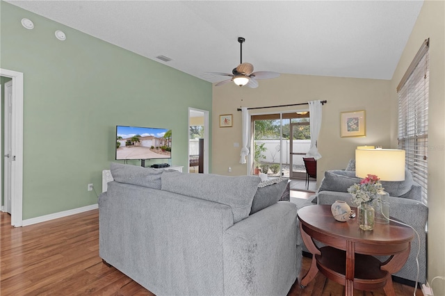
<svg viewBox="0 0 445 296">
<path fill-rule="evenodd" d="M 318 204 L 333 204 L 337 200 L 347 202 L 350 206 L 357 206 L 351 202 L 348 188 L 361 179 L 355 176 L 354 171 L 332 170 L 326 171 L 313 202 Z M 412 180 L 409 171 L 405 171 L 405 181 L 385 182 L 382 187 L 389 193 L 389 215 L 413 227 L 419 238 L 414 236 L 411 242 L 411 252 L 403 268 L 394 276 L 408 281 L 416 281 L 417 264 L 419 260 L 419 278 L 421 283 L 426 282 L 426 222 L 428 221 L 428 207 L 421 200 L 421 186 Z M 420 246 L 420 249 L 419 249 Z M 307 249 L 304 248 L 306 251 Z M 419 252 L 419 256 L 417 253 Z"/>
</svg>

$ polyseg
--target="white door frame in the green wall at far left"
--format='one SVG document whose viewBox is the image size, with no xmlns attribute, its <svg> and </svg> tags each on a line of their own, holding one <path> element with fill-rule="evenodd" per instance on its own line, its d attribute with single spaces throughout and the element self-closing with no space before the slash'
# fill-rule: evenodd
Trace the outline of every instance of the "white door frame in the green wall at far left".
<svg viewBox="0 0 445 296">
<path fill-rule="evenodd" d="M 13 113 L 11 114 L 11 225 L 23 224 L 23 73 L 0 68 L 0 76 L 13 82 Z M 3 162 L 3 159 L 1 160 Z"/>
</svg>

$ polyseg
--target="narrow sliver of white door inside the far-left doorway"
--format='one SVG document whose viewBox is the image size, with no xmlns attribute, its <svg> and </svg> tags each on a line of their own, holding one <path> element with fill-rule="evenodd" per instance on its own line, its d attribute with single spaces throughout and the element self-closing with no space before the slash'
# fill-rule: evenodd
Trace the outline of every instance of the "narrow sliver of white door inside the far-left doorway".
<svg viewBox="0 0 445 296">
<path fill-rule="evenodd" d="M 4 175 L 3 175 L 3 197 L 5 199 L 5 211 L 11 213 L 11 162 L 13 161 L 13 149 L 11 145 L 11 115 L 13 114 L 13 81 L 5 83 L 5 109 L 4 109 L 4 142 L 3 151 L 5 154 Z"/>
</svg>

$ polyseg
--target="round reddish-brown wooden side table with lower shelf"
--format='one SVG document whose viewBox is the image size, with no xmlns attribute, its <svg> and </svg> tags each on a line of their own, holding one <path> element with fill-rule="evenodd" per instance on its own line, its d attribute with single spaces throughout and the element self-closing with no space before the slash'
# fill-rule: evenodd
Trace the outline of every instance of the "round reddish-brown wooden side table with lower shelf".
<svg viewBox="0 0 445 296">
<path fill-rule="evenodd" d="M 355 211 L 357 209 L 355 208 Z M 357 290 L 383 288 L 386 295 L 394 295 L 391 274 L 401 270 L 410 255 L 414 231 L 410 227 L 390 221 L 374 224 L 372 231 L 359 229 L 357 217 L 338 222 L 329 205 L 306 206 L 298 211 L 300 231 L 312 265 L 300 280 L 302 288 L 320 271 L 328 279 L 345 286 L 346 296 Z M 318 248 L 314 240 L 325 247 Z M 374 256 L 390 256 L 380 262 Z"/>
</svg>

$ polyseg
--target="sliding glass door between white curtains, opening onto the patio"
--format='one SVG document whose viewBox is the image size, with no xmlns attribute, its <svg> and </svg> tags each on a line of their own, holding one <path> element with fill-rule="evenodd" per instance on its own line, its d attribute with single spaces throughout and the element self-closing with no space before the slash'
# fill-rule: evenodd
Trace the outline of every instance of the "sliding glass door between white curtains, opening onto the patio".
<svg viewBox="0 0 445 296">
<path fill-rule="evenodd" d="M 251 174 L 305 179 L 302 157 L 310 147 L 309 113 L 251 117 Z"/>
</svg>

